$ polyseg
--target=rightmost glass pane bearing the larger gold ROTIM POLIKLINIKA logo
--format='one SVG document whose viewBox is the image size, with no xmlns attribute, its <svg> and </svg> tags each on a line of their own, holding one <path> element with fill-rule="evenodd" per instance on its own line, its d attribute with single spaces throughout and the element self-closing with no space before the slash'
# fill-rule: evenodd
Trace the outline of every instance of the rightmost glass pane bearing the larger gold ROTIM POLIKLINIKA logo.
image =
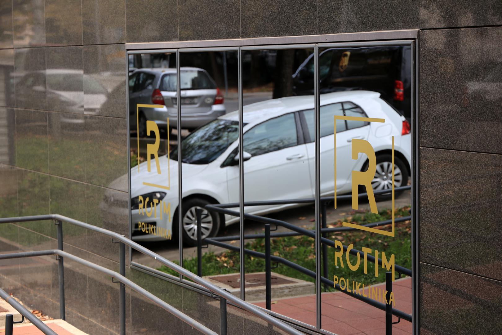
<svg viewBox="0 0 502 335">
<path fill-rule="evenodd" d="M 402 132 L 408 122 L 402 115 L 411 110 L 411 90 L 404 87 L 404 99 L 394 99 L 395 83 L 411 82 L 407 66 L 411 50 L 409 46 L 319 50 L 320 56 L 328 52 L 333 55 L 331 67 L 328 74 L 319 78 L 321 136 L 328 122 L 324 120 L 323 113 L 327 111 L 323 109 L 323 99 L 333 99 L 343 106 L 342 115 L 346 117 L 384 122 L 337 121 L 336 141 L 332 132 L 320 139 L 319 191 L 323 199 L 318 219 L 322 226 L 331 228 L 323 233 L 331 243 L 326 252 L 321 249 L 321 275 L 332 281 L 321 286 L 321 327 L 332 333 L 365 333 L 371 324 L 372 334 L 384 335 L 385 311 L 363 300 L 385 303 L 386 272 L 395 278 L 393 307 L 412 310 L 411 278 L 386 264 L 394 262 L 395 266 L 411 269 L 410 189 L 396 191 L 394 201 L 392 198 L 393 184 L 408 186 L 411 178 L 411 134 Z M 329 114 L 332 117 L 335 113 Z M 338 127 L 346 129 L 339 131 Z M 353 187 L 354 181 L 361 184 Z M 395 224 L 389 225 L 393 217 Z M 386 224 L 378 226 L 379 222 Z M 347 248 L 361 254 L 347 255 Z M 383 260 L 384 266 L 382 261 L 375 263 L 371 256 Z M 397 319 L 393 316 L 394 322 Z M 411 322 L 401 319 L 399 324 L 399 331 L 412 332 Z"/>
</svg>

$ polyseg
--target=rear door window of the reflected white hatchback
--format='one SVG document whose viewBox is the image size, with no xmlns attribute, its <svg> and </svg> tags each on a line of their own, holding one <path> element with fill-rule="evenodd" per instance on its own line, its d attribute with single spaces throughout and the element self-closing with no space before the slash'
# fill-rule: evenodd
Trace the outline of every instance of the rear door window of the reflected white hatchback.
<svg viewBox="0 0 502 335">
<path fill-rule="evenodd" d="M 310 142 L 314 142 L 315 132 L 314 132 L 314 109 L 302 110 L 300 113 L 303 114 L 305 121 L 307 122 L 308 134 L 310 137 Z M 321 106 L 321 137 L 333 135 L 334 134 L 334 118 L 333 116 L 343 116 L 343 108 L 341 102 L 332 103 L 325 106 Z M 345 128 L 345 123 L 343 121 L 336 122 L 336 132 L 343 132 L 347 130 Z"/>
</svg>

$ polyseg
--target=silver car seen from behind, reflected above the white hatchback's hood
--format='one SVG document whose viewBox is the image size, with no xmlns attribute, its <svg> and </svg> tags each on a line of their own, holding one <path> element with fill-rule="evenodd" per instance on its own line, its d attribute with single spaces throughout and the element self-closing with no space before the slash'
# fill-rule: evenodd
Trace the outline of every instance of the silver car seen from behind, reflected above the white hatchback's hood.
<svg viewBox="0 0 502 335">
<path fill-rule="evenodd" d="M 181 68 L 182 128 L 195 129 L 225 114 L 223 95 L 209 74 L 200 68 Z M 131 130 L 146 135 L 147 120 L 155 121 L 161 131 L 177 128 L 176 69 L 142 68 L 129 76 L 129 113 Z M 159 104 L 159 108 L 139 108 Z M 169 118 L 169 128 L 167 119 Z"/>
</svg>

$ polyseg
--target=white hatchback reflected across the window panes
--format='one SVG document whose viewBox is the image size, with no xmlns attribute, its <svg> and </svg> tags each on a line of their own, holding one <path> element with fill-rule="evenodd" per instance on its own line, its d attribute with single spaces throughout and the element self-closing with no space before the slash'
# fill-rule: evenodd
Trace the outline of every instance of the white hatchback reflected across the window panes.
<svg viewBox="0 0 502 335">
<path fill-rule="evenodd" d="M 337 194 L 351 192 L 352 170 L 364 171 L 366 155 L 351 156 L 353 139 L 367 140 L 376 154 L 373 189 L 392 187 L 391 148 L 395 145 L 395 186 L 408 183 L 411 162 L 410 125 L 393 107 L 371 91 L 333 92 L 320 96 L 321 195 L 334 194 L 334 115 L 385 119 L 385 123 L 337 121 Z M 244 106 L 244 197 L 245 201 L 313 198 L 314 98 L 293 96 Z M 239 201 L 238 113 L 220 116 L 182 141 L 183 240 L 196 242 L 195 210 L 209 203 Z M 162 240 L 152 231 L 138 230 L 138 222 L 170 231 L 177 236 L 178 162 L 177 151 L 160 157 L 161 169 L 170 168 L 170 189 L 148 184 L 159 180 L 152 160 L 151 172 L 144 162 L 131 169 L 133 240 Z M 138 172 L 140 170 L 141 172 Z M 170 215 L 148 217 L 138 209 L 138 199 L 162 200 L 170 204 Z M 144 206 L 144 204 L 142 204 Z M 148 205 L 150 206 L 150 204 Z M 160 202 L 158 204 L 160 206 Z M 246 213 L 266 214 L 295 204 L 248 206 Z M 159 210 L 159 209 L 156 209 Z M 203 209 L 202 237 L 215 236 L 224 225 L 238 218 Z M 174 224 L 174 225 L 173 225 Z M 164 237 L 165 238 L 165 237 Z"/>
</svg>

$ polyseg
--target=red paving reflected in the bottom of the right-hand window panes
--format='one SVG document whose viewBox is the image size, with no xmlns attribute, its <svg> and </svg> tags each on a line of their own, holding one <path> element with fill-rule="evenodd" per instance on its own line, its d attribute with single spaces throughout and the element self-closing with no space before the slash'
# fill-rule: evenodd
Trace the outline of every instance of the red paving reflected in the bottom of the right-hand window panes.
<svg viewBox="0 0 502 335">
<path fill-rule="evenodd" d="M 385 285 L 385 283 L 379 285 Z M 393 283 L 395 308 L 409 314 L 412 312 L 411 285 L 412 279 L 409 277 L 398 279 Z M 367 288 L 364 291 L 367 292 Z M 265 307 L 265 302 L 255 304 Z M 279 299 L 272 304 L 272 311 L 315 325 L 315 295 Z M 345 293 L 322 293 L 321 312 L 322 328 L 338 335 L 385 334 L 385 312 Z M 394 316 L 393 321 L 397 320 L 398 318 Z M 402 319 L 393 325 L 392 333 L 393 335 L 411 334 L 411 322 Z"/>
</svg>

